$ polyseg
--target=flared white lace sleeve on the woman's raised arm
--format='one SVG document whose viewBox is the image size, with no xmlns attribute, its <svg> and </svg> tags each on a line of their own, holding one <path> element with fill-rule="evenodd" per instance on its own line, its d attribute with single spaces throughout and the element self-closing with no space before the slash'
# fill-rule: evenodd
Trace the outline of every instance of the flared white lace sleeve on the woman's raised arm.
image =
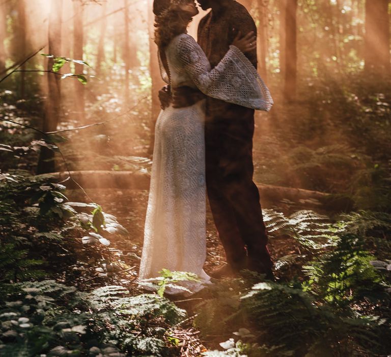
<svg viewBox="0 0 391 357">
<path fill-rule="evenodd" d="M 235 46 L 212 70 L 195 40 L 184 35 L 177 46 L 178 60 L 194 84 L 206 95 L 240 105 L 269 111 L 273 99 L 257 70 Z"/>
</svg>

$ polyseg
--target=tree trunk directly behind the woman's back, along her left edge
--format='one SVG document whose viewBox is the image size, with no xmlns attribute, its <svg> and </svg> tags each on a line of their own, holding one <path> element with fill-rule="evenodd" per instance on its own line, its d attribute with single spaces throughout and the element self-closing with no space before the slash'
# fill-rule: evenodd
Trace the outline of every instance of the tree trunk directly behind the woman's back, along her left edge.
<svg viewBox="0 0 391 357">
<path fill-rule="evenodd" d="M 153 144 L 155 141 L 155 124 L 157 116 L 160 112 L 160 102 L 159 102 L 159 89 L 165 85 L 165 83 L 162 81 L 160 77 L 160 68 L 159 68 L 159 62 L 157 57 L 157 46 L 155 42 L 153 41 L 155 35 L 154 35 L 154 17 L 152 12 L 152 0 L 149 0 L 149 7 L 148 7 L 148 32 L 149 32 L 149 70 L 151 74 L 152 79 L 152 88 L 151 88 L 151 95 L 152 95 L 152 107 L 151 107 L 151 121 L 150 121 L 150 143 L 148 148 L 148 154 L 152 155 L 153 152 Z"/>
</svg>

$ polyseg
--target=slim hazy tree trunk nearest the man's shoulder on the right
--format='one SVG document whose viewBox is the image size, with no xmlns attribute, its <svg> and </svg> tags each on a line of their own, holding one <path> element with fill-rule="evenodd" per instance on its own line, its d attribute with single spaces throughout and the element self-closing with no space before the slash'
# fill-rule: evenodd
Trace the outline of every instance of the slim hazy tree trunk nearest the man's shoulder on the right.
<svg viewBox="0 0 391 357">
<path fill-rule="evenodd" d="M 267 56 L 267 5 L 268 0 L 258 0 L 259 25 L 257 29 L 257 57 L 258 70 L 264 81 L 267 80 L 266 56 Z"/>
</svg>

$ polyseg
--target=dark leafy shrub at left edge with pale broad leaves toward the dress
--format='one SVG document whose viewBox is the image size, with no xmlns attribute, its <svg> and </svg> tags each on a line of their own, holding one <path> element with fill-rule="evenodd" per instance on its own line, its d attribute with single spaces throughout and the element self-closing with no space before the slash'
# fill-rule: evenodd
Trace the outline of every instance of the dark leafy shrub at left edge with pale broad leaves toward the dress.
<svg viewBox="0 0 391 357">
<path fill-rule="evenodd" d="M 37 179 L 0 174 L 0 264 L 4 268 L 0 283 L 42 277 L 42 269 L 49 266 L 49 273 L 55 273 L 76 264 L 78 236 L 83 234 L 82 243 L 100 243 L 90 250 L 103 260 L 109 254 L 110 237 L 128 234 L 115 216 L 103 212 L 96 203 L 67 202 L 65 186 L 51 181 L 50 175 Z M 86 236 L 86 231 L 93 232 Z M 107 270 L 114 267 L 105 266 Z"/>
</svg>

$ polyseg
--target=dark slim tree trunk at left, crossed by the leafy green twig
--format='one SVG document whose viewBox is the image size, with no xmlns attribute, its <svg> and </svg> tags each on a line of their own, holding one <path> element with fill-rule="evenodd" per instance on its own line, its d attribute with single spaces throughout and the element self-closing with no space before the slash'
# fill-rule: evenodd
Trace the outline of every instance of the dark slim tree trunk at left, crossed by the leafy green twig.
<svg viewBox="0 0 391 357">
<path fill-rule="evenodd" d="M 48 28 L 48 53 L 60 56 L 61 52 L 61 21 L 62 21 L 62 4 L 63 0 L 50 2 L 50 16 Z M 53 59 L 47 61 L 47 70 L 51 71 Z M 57 124 L 60 117 L 61 108 L 61 77 L 56 74 L 47 73 L 48 95 L 45 106 L 45 118 L 43 121 L 43 131 L 52 132 L 57 130 Z M 53 172 L 55 170 L 54 151 L 42 147 L 37 173 Z"/>
</svg>

